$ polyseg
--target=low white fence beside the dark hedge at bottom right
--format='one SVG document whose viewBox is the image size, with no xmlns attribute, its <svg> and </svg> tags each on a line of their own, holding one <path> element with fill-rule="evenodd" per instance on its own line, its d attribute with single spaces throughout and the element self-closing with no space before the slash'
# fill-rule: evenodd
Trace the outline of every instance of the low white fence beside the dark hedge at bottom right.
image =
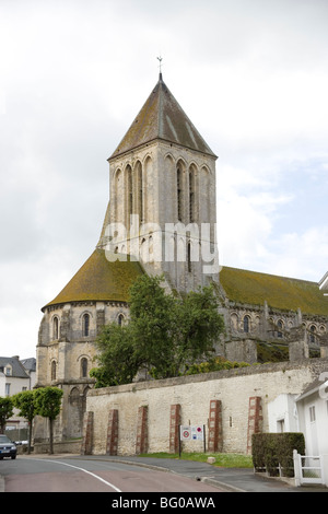
<svg viewBox="0 0 328 514">
<path fill-rule="evenodd" d="M 293 452 L 295 486 L 328 486 L 328 455 L 300 455 Z"/>
</svg>

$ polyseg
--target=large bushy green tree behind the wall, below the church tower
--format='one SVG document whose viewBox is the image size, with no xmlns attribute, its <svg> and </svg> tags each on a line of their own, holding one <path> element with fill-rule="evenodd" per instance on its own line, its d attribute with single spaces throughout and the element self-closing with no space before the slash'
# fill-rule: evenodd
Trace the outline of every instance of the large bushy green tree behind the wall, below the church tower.
<svg viewBox="0 0 328 514">
<path fill-rule="evenodd" d="M 178 376 L 207 359 L 223 331 L 213 288 L 184 297 L 167 294 L 162 277 L 140 277 L 130 290 L 130 323 L 105 327 L 97 339 L 98 387 L 131 382 L 147 370 L 155 378 Z"/>
</svg>

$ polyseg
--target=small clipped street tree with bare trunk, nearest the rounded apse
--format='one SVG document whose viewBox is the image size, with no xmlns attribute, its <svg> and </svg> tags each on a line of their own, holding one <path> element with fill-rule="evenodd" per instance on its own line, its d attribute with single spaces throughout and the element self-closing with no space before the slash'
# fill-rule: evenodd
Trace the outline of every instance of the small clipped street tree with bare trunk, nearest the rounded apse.
<svg viewBox="0 0 328 514">
<path fill-rule="evenodd" d="M 40 387 L 35 389 L 36 413 L 49 419 L 49 453 L 54 454 L 54 421 L 60 412 L 62 389 Z"/>
</svg>

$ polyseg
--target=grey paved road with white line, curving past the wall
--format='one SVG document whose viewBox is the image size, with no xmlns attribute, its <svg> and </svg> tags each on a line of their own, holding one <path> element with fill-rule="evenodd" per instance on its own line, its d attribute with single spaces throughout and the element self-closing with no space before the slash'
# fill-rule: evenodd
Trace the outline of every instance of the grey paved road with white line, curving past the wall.
<svg viewBox="0 0 328 514">
<path fill-rule="evenodd" d="M 0 462 L 4 492 L 207 492 L 213 487 L 192 478 L 119 462 L 83 457 L 27 457 Z"/>
</svg>

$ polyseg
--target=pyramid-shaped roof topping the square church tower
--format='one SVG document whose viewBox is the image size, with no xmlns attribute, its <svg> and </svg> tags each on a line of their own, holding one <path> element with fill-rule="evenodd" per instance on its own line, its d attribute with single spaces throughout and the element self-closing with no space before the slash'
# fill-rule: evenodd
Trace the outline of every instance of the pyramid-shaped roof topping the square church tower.
<svg viewBox="0 0 328 514">
<path fill-rule="evenodd" d="M 109 160 L 157 139 L 216 157 L 163 82 L 162 73 Z"/>
</svg>

